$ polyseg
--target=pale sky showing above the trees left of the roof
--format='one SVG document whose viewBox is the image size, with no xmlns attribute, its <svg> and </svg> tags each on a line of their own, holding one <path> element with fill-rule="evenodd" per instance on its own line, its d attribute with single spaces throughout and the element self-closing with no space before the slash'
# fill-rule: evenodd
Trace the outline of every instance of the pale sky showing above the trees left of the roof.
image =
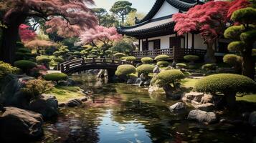
<svg viewBox="0 0 256 143">
<path fill-rule="evenodd" d="M 94 0 L 95 7 L 101 7 L 104 9 L 109 9 L 118 0 Z M 133 4 L 133 8 L 136 8 L 138 12 L 148 14 L 148 11 L 152 8 L 156 0 L 126 0 Z"/>
</svg>

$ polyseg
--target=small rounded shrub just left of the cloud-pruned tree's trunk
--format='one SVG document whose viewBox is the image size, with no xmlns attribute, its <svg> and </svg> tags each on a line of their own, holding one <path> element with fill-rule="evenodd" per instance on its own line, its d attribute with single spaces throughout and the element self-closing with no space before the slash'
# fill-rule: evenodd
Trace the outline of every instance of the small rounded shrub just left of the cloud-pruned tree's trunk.
<svg viewBox="0 0 256 143">
<path fill-rule="evenodd" d="M 236 67 L 236 69 L 240 69 L 242 66 L 242 57 L 236 54 L 226 54 L 223 57 L 223 62 Z"/>
</svg>

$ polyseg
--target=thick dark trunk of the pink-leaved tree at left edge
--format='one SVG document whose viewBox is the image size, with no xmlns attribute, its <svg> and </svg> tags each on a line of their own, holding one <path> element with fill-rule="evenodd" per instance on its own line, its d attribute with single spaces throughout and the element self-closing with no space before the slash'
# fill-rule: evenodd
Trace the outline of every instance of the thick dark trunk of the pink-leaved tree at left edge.
<svg viewBox="0 0 256 143">
<path fill-rule="evenodd" d="M 10 14 L 5 19 L 7 29 L 3 29 L 3 38 L 0 46 L 0 60 L 13 64 L 15 60 L 16 41 L 19 39 L 19 25 L 24 23 L 26 16 L 21 13 Z"/>
</svg>

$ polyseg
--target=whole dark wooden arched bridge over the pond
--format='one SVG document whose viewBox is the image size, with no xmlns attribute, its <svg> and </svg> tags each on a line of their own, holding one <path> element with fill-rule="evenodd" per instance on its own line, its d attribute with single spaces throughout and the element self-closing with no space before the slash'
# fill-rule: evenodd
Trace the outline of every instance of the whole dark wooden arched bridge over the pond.
<svg viewBox="0 0 256 143">
<path fill-rule="evenodd" d="M 85 71 L 89 69 L 108 69 L 109 77 L 115 74 L 118 66 L 122 64 L 132 64 L 129 61 L 108 58 L 92 58 L 92 59 L 72 59 L 58 65 L 58 70 L 65 74 L 73 74 L 75 72 Z"/>
</svg>

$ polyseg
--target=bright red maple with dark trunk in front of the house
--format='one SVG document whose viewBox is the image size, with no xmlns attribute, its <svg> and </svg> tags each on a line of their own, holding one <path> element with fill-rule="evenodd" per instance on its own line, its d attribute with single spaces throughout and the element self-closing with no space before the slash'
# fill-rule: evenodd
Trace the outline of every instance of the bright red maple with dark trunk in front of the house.
<svg viewBox="0 0 256 143">
<path fill-rule="evenodd" d="M 206 62 L 215 62 L 214 41 L 222 35 L 227 23 L 227 12 L 230 2 L 209 1 L 202 5 L 196 5 L 186 13 L 174 14 L 176 22 L 174 30 L 179 35 L 197 31 L 207 44 Z"/>
</svg>

